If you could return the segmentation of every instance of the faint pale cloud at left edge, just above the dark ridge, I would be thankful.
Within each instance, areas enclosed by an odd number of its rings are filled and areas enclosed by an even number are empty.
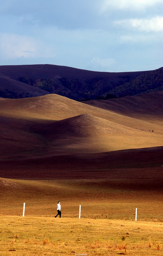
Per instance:
[[[4,33],[0,38],[0,55],[4,60],[52,56],[50,49],[32,36]]]

